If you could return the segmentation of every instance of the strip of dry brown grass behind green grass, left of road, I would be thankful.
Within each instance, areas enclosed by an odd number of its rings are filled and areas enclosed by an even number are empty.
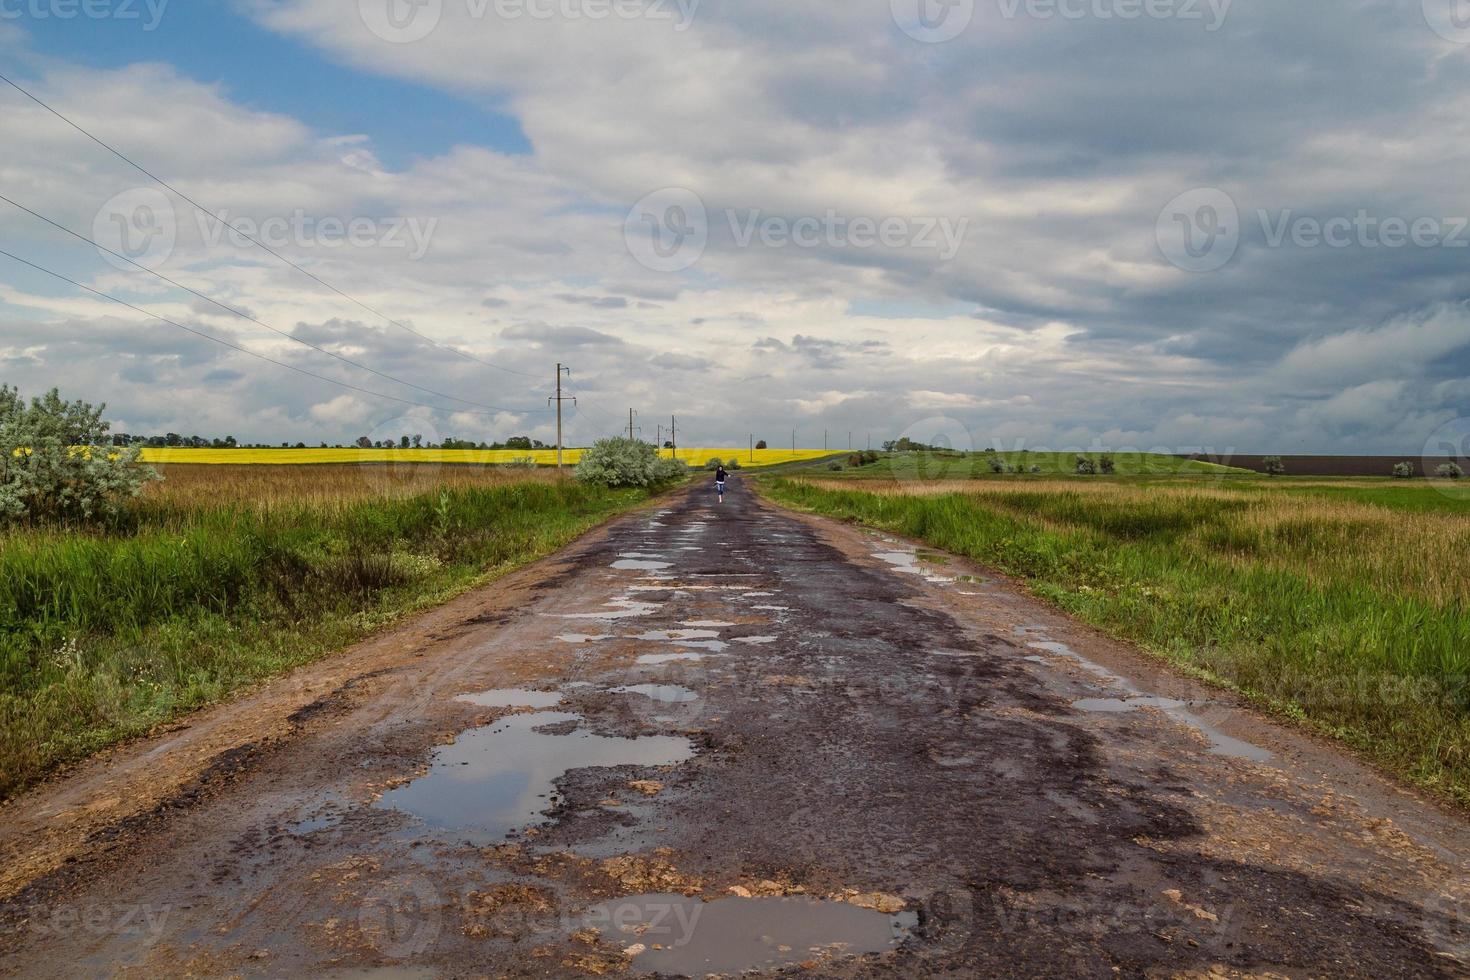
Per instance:
[[[409,497],[440,486],[506,486],[554,483],[554,469],[442,466],[435,463],[365,463],[319,466],[198,466],[160,464],[163,476],[150,483],[144,501],[169,507],[247,504],[273,507],[331,505],[369,497]]]

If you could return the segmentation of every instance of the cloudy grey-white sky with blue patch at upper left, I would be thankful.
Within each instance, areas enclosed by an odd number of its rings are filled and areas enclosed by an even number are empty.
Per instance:
[[[0,84],[81,235],[0,201],[0,382],[123,432],[1467,430],[1466,0],[0,0],[0,73],[168,184]]]

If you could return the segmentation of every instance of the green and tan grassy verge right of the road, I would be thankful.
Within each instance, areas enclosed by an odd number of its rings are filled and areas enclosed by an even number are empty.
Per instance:
[[[770,480],[926,541],[1470,804],[1470,504],[1413,482]],[[856,473],[854,473],[856,475]]]

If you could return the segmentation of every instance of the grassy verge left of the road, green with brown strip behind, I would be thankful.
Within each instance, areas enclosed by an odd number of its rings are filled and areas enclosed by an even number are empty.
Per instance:
[[[162,467],[107,532],[0,533],[0,796],[647,498],[476,467]]]

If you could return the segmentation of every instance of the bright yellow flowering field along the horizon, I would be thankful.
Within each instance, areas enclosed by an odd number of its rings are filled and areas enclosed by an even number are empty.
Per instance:
[[[670,450],[664,457],[673,455]],[[678,450],[678,457],[692,466],[709,460],[739,460],[741,466],[763,467],[797,463],[831,455],[823,450],[751,450],[723,448]],[[146,463],[198,463],[209,466],[293,466],[320,463],[438,463],[504,466],[531,457],[538,466],[554,466],[556,450],[143,450]],[[563,461],[570,466],[582,458],[582,450],[563,450]]]

